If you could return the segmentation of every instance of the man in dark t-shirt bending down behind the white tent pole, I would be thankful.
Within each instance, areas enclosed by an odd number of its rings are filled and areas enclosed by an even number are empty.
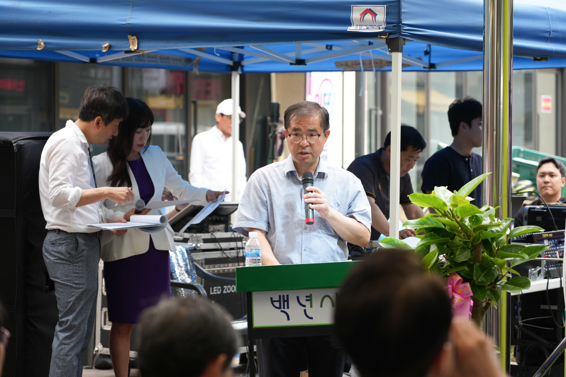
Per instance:
[[[411,170],[421,151],[426,147],[421,134],[416,128],[401,125],[401,180],[399,202],[403,205],[405,215],[409,220],[424,216],[421,207],[411,203],[409,195],[413,193],[411,186]],[[391,161],[391,132],[385,137],[383,148],[375,153],[356,158],[348,167],[348,171],[357,176],[366,190],[367,199],[371,206],[371,240],[379,236],[389,235],[389,163]],[[401,229],[400,239],[414,236],[413,229]]]

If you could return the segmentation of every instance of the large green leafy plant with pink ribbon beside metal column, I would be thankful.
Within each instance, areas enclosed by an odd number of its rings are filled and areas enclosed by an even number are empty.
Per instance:
[[[431,194],[410,194],[414,204],[436,211],[403,224],[414,228],[420,241],[416,246],[393,237],[380,241],[385,248],[413,250],[430,274],[448,276],[456,272],[464,283],[469,283],[473,292],[471,315],[480,328],[489,307],[497,307],[500,291],[530,288],[530,280],[525,276],[512,277],[511,273],[519,275],[513,267],[537,258],[548,248],[509,244],[513,237],[544,229],[535,226],[509,229],[512,219],[496,218],[498,207],[478,208],[470,202],[473,198],[468,195],[489,174],[476,177],[457,192],[435,187]]]

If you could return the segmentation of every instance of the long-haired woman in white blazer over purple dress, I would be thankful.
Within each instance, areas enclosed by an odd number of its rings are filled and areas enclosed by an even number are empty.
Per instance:
[[[127,98],[130,114],[112,138],[108,151],[93,157],[97,182],[111,187],[131,187],[134,201],[125,205],[105,200],[106,218],[130,220],[135,201],[160,201],[164,188],[179,200],[196,199],[196,205],[216,201],[221,192],[196,188],[175,171],[165,153],[151,144],[153,113],[145,102]],[[161,214],[160,210],[144,210],[141,214]],[[108,232],[104,232],[108,233]],[[110,357],[116,377],[126,377],[130,358],[130,331],[138,323],[141,311],[162,296],[170,296],[169,250],[174,250],[173,229],[146,233],[129,229],[123,236],[101,237],[101,258],[108,301]]]

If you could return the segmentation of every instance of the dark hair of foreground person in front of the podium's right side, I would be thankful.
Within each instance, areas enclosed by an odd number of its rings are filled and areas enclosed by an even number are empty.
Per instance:
[[[358,262],[338,293],[337,336],[362,377],[422,377],[444,343],[451,304],[413,253],[387,249]]]

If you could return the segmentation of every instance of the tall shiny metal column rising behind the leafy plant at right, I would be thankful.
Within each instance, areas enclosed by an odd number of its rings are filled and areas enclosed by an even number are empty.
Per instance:
[[[511,209],[511,95],[513,93],[513,0],[484,0],[483,40],[483,203],[500,206],[497,216],[508,217]],[[507,352],[506,295],[498,309],[484,319],[484,332],[501,349],[502,366]]]

